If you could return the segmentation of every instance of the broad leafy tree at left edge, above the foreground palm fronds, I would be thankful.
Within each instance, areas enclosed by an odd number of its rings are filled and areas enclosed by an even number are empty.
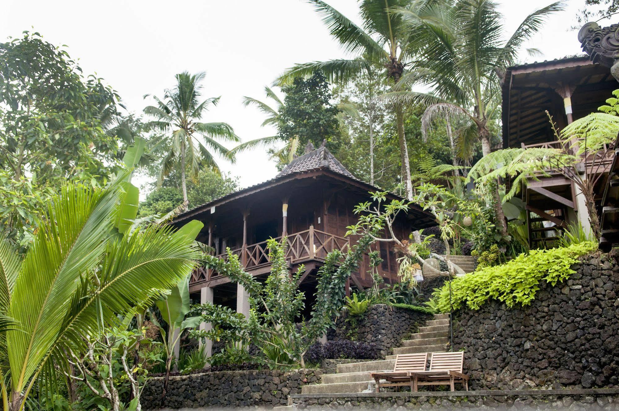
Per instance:
[[[23,251],[62,184],[97,186],[120,167],[139,121],[39,33],[0,43],[0,62],[0,231]]]

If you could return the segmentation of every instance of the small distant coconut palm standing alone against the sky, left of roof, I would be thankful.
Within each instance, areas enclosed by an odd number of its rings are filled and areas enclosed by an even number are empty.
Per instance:
[[[180,168],[181,186],[185,206],[188,204],[186,170],[194,178],[201,167],[208,167],[220,171],[214,155],[209,148],[222,157],[234,162],[235,158],[226,147],[217,142],[239,142],[234,130],[227,123],[202,123],[199,121],[209,106],[217,105],[220,97],[207,98],[200,102],[202,85],[206,74],[176,74],[176,85],[173,89],[165,90],[163,98],[154,97],[157,106],[147,106],[144,113],[156,118],[147,126],[162,131],[163,139],[168,139],[172,149],[163,158],[160,172],[160,181],[170,171]],[[146,95],[144,97],[148,97]],[[207,148],[209,147],[209,148]]]

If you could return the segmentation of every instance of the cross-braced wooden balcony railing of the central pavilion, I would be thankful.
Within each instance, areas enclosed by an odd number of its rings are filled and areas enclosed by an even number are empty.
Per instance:
[[[281,241],[282,237],[277,237],[275,240]],[[286,243],[285,257],[291,264],[313,259],[321,260],[331,251],[337,249],[346,252],[350,247],[348,238],[314,230],[313,226],[310,226],[308,230],[288,235]],[[271,263],[267,241],[233,249],[232,253],[240,257],[241,264],[248,271],[267,266]],[[218,254],[217,257],[227,259],[228,254]],[[221,275],[213,269],[198,267],[191,274],[190,283],[201,283],[220,277]]]

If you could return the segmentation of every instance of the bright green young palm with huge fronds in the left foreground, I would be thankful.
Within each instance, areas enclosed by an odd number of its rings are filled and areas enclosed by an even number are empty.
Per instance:
[[[47,207],[23,256],[0,239],[0,392],[21,411],[32,387],[68,370],[67,352],[85,353],[118,315],[147,306],[189,275],[201,256],[202,223],[129,230],[137,188],[116,176],[105,189],[67,185]],[[136,203],[136,204],[133,204]]]

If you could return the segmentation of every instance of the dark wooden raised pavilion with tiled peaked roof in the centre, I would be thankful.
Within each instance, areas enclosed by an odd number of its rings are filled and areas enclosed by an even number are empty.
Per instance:
[[[189,219],[204,222],[198,241],[209,244],[217,256],[226,257],[226,249],[240,257],[250,274],[264,279],[271,264],[266,246],[269,238],[287,237],[286,257],[292,270],[303,264],[305,272],[300,288],[306,293],[306,306],[311,306],[316,272],[327,253],[347,251],[357,238],[346,236],[347,226],[357,222],[353,208],[370,200],[369,191],[378,188],[353,176],[324,145],[314,149],[311,143],[306,154],[288,164],[275,178],[215,199],[188,210],[173,220],[181,225]],[[389,194],[389,199],[399,198]],[[400,238],[412,230],[435,225],[433,218],[419,207],[399,216],[395,228]],[[385,282],[397,280],[396,255],[385,243],[374,246],[383,262],[378,267]],[[372,284],[369,257],[366,254],[358,272],[352,277],[357,288]],[[189,282],[190,293],[201,294],[201,301],[227,305],[248,313],[243,288],[231,283],[225,275],[201,267]]]

